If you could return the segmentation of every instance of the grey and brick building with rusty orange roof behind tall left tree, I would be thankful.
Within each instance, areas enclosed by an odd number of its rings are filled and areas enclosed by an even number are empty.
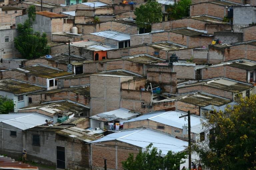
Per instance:
[[[17,16],[16,25],[24,23],[28,18],[28,14]],[[36,20],[33,23],[33,29],[40,33],[45,32],[48,41],[52,40],[52,34],[65,32],[64,19],[67,18],[65,15],[56,14],[48,11],[36,12]],[[73,24],[72,26],[73,27]],[[70,29],[71,29],[70,27]]]

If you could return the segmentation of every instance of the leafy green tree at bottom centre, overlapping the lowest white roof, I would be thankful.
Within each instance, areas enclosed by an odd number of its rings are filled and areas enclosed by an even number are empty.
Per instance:
[[[161,157],[162,151],[157,151],[156,147],[152,147],[150,143],[146,147],[146,151],[140,151],[134,158],[133,153],[129,154],[127,160],[122,162],[122,166],[126,170],[177,170],[180,164],[184,163],[182,159],[186,159],[186,152],[174,153],[168,151],[167,155]]]

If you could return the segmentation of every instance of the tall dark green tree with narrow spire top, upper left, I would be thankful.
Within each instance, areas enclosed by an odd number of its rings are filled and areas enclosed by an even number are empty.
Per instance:
[[[14,39],[15,47],[27,59],[40,57],[49,52],[46,34],[41,35],[32,28],[33,21],[36,19],[35,12],[35,6],[31,5],[28,9],[28,19],[24,24],[18,24],[18,37]]]

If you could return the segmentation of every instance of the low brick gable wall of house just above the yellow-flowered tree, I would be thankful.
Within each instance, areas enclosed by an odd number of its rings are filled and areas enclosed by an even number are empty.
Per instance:
[[[228,91],[221,90],[221,89],[216,89],[213,87],[198,85],[198,86],[178,88],[178,93],[189,93],[189,92],[196,92],[196,91],[201,91],[204,93],[209,93],[212,95],[216,95],[216,96],[220,96],[220,97],[224,97],[224,98],[233,100],[232,92],[228,92]]]

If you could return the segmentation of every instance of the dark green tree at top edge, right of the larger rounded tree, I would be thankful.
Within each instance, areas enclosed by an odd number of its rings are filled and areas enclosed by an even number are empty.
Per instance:
[[[169,5],[167,12],[169,13],[169,19],[177,20],[182,17],[189,16],[189,5],[191,5],[191,0],[180,0],[178,3]]]

